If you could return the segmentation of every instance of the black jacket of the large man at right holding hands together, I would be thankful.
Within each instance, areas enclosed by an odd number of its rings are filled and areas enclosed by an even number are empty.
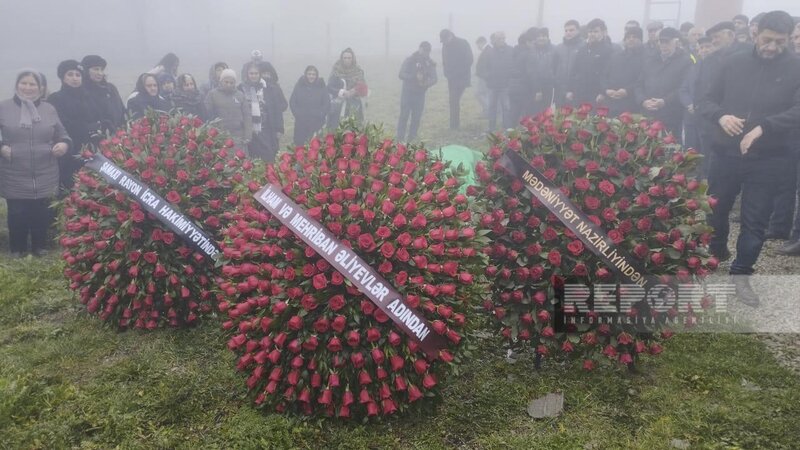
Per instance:
[[[697,107],[714,124],[713,151],[740,155],[739,142],[744,134],[761,126],[763,135],[753,143],[748,157],[789,153],[791,132],[800,124],[800,59],[796,55],[783,52],[765,60],[755,50],[737,52],[722,61],[709,81],[710,89]],[[725,134],[719,119],[726,114],[746,119],[742,135]]]

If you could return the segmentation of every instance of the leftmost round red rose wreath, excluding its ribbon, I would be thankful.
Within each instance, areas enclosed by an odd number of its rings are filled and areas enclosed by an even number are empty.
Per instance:
[[[238,202],[233,185],[253,167],[227,135],[188,116],[148,115],[99,147],[213,240]],[[193,325],[213,310],[214,261],[96,171],[81,169],[61,208],[64,273],[89,313],[154,329]]]

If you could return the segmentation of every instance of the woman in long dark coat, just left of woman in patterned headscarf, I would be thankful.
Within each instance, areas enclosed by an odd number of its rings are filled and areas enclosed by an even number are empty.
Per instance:
[[[325,125],[331,109],[331,97],[316,67],[306,67],[294,86],[289,106],[294,115],[294,145],[304,145]]]

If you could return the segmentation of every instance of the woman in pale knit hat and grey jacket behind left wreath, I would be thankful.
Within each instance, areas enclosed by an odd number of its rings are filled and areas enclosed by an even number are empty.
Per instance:
[[[220,128],[231,134],[236,146],[248,151],[253,137],[250,103],[236,90],[236,72],[225,69],[219,76],[219,87],[208,93],[205,100],[209,119],[220,119]]]

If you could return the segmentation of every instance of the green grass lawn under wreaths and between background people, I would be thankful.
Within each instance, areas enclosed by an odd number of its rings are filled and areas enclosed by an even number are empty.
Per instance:
[[[373,83],[368,112],[392,133],[397,64]],[[292,85],[284,84],[287,96]],[[464,130],[454,134],[446,129],[446,97],[440,82],[428,98],[422,137],[485,148],[475,139],[485,125],[472,92],[464,98]],[[369,425],[303,421],[251,407],[217,321],[118,333],[87,316],[61,271],[57,256],[0,255],[0,448],[800,445],[800,377],[748,335],[678,335],[661,356],[644,359],[639,373],[585,373],[552,360],[536,370],[529,355],[509,364],[500,342],[481,333],[472,337],[474,358],[422,414]],[[528,402],[549,392],[564,393],[564,412],[531,419]]]

